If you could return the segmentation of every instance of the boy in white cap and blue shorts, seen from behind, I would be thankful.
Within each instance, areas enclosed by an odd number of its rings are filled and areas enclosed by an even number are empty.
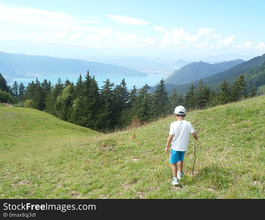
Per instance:
[[[189,134],[198,140],[198,136],[189,121],[184,120],[186,116],[186,109],[179,105],[175,108],[174,117],[177,121],[170,124],[169,136],[167,139],[167,146],[165,152],[169,151],[168,146],[171,143],[171,151],[169,156],[169,162],[172,164],[173,182],[172,185],[178,185],[179,179],[182,179],[183,175],[183,158],[186,150],[189,146]],[[177,169],[177,163],[179,169]]]

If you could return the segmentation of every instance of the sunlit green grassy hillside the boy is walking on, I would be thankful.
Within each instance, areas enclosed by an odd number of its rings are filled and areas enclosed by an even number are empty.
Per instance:
[[[0,198],[265,198],[264,109],[259,96],[188,112],[201,128],[194,180],[191,136],[183,179],[172,186],[164,150],[173,116],[99,135],[33,109],[0,107]]]

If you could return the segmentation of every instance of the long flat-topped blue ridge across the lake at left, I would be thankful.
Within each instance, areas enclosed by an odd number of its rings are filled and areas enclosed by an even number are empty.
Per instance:
[[[146,76],[129,68],[77,59],[22,55],[0,52],[0,73],[10,77],[25,75],[78,75],[89,70],[91,75]]]

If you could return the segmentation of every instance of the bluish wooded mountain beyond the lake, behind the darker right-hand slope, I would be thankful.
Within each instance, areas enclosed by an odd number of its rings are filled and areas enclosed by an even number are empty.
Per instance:
[[[174,71],[164,81],[165,83],[171,83],[176,85],[190,83],[192,81],[199,80],[211,76],[213,74],[225,71],[243,62],[245,61],[241,59],[225,61],[216,64],[209,64],[203,61],[192,62]]]

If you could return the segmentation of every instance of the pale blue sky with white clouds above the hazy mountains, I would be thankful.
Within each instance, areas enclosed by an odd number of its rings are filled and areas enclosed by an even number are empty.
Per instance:
[[[264,1],[0,0],[0,40],[256,56],[265,53],[264,11]]]

